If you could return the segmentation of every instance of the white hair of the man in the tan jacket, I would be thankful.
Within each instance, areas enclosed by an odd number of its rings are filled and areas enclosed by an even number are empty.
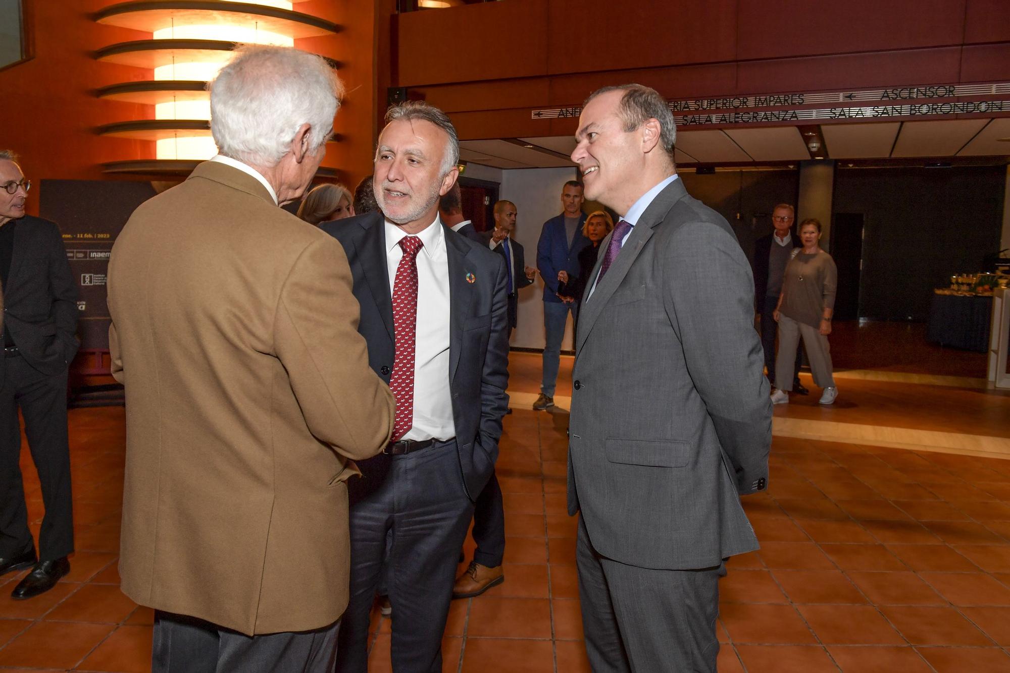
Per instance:
[[[288,46],[236,50],[209,85],[210,132],[218,151],[246,163],[274,166],[302,124],[310,149],[329,138],[343,87],[321,58]]]

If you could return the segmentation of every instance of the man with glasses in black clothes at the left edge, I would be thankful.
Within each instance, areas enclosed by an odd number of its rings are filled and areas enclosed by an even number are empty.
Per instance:
[[[32,568],[14,598],[52,589],[70,572],[74,551],[67,372],[79,346],[78,293],[60,229],[24,214],[30,186],[13,153],[0,151],[0,574]],[[45,507],[37,557],[18,466],[18,407]]]

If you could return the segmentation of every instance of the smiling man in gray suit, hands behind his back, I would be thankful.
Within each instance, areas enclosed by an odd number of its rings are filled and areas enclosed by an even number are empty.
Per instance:
[[[772,405],[750,265],[688,196],[674,118],[640,85],[583,108],[586,198],[624,213],[579,320],[569,514],[593,670],[715,671],[723,559],[758,548],[739,494],[766,487]]]

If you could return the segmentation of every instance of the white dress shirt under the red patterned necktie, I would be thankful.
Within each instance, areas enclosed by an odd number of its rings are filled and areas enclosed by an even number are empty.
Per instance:
[[[393,294],[396,269],[403,257],[403,230],[386,220],[386,266]],[[416,234],[423,243],[417,253],[417,333],[414,341],[414,425],[403,439],[446,440],[456,437],[452,392],[448,384],[449,293],[445,232],[435,216]]]

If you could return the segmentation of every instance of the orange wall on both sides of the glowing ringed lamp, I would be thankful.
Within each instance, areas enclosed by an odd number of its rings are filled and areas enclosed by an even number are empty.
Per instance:
[[[149,80],[149,70],[99,63],[92,53],[103,46],[149,33],[98,24],[91,14],[116,0],[26,0],[34,40],[34,58],[0,71],[0,148],[21,155],[27,177],[64,180],[145,180],[107,176],[101,163],[155,157],[150,141],[109,138],[94,129],[129,119],[154,118],[154,107],[101,100],[100,87]],[[354,187],[372,172],[377,134],[377,109],[385,109],[389,69],[381,68],[377,49],[389,51],[390,16],[395,0],[308,0],[297,11],[334,21],[336,35],[296,40],[301,48],[318,51],[343,64],[338,71],[347,95],[334,130],[342,136],[330,143],[323,164],[338,169]],[[377,38],[377,35],[380,38]],[[388,63],[388,55],[381,63]],[[381,106],[378,103],[381,102]],[[29,195],[28,210],[38,211],[38,191]]]

